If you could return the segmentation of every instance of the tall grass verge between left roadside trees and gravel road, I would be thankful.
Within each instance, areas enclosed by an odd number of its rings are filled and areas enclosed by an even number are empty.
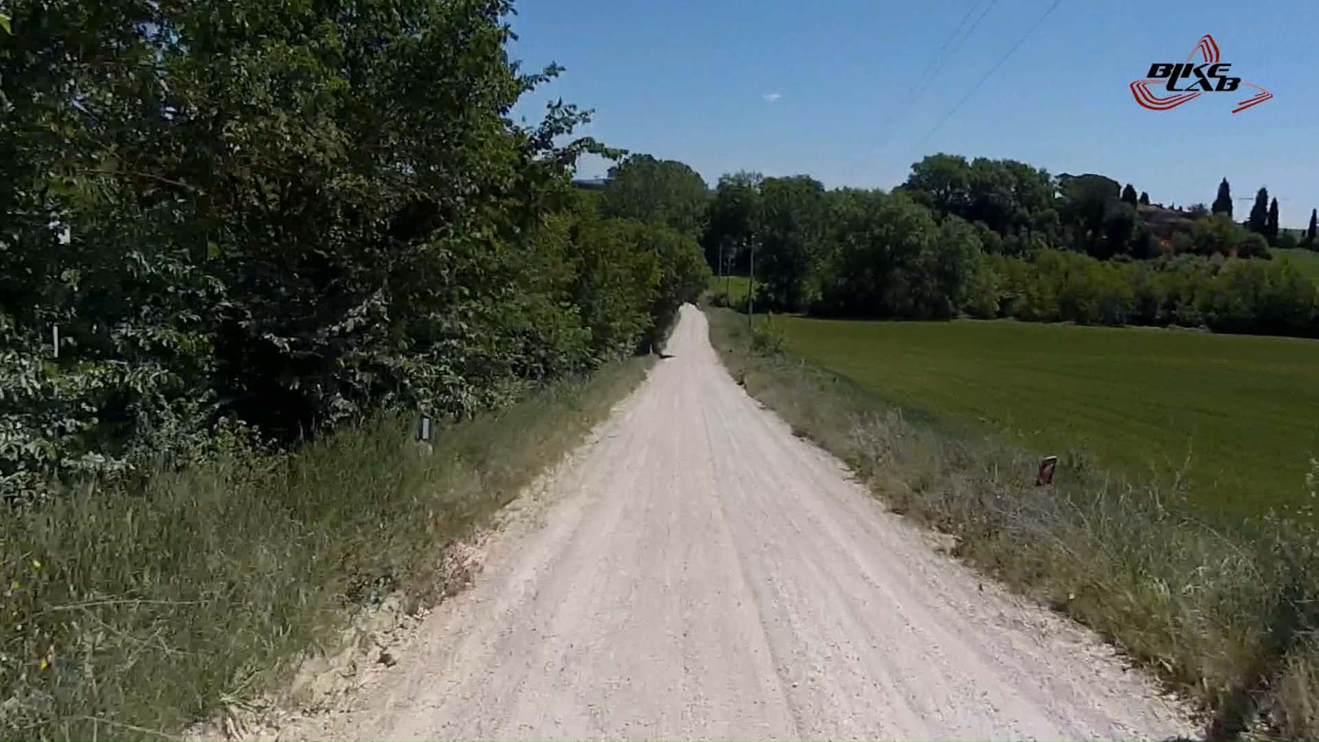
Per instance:
[[[375,420],[285,457],[87,486],[5,514],[0,737],[171,737],[286,683],[359,606],[414,606],[442,544],[508,503],[644,378],[634,358],[441,429]]]

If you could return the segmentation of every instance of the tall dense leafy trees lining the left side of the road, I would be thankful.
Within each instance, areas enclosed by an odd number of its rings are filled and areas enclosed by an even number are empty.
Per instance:
[[[0,490],[218,426],[472,415],[662,331],[706,283],[704,186],[660,220],[572,189],[612,152],[572,106],[512,121],[559,70],[508,58],[510,12],[5,3]]]

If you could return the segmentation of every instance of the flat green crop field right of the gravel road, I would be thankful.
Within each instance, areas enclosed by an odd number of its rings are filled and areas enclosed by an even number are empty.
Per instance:
[[[1308,499],[1319,455],[1319,342],[1014,321],[782,318],[789,349],[910,413],[1086,452],[1210,510]],[[1190,457],[1190,466],[1186,466]]]

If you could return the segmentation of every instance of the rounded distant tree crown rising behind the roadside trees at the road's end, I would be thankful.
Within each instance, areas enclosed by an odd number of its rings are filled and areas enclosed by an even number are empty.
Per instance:
[[[690,166],[633,154],[609,169],[609,182],[600,193],[600,214],[699,236],[708,201],[706,181]]]

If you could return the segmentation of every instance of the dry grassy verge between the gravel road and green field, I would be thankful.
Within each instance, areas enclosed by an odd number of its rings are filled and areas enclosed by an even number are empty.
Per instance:
[[[1062,457],[1053,486],[1035,487],[1035,452],[909,419],[774,350],[781,329],[749,333],[745,316],[725,309],[707,316],[711,342],[749,393],[851,465],[894,511],[955,535],[960,557],[1203,701],[1212,737],[1258,721],[1319,737],[1312,525],[1270,515],[1215,529],[1195,519],[1184,481],[1141,482],[1078,454]]]

